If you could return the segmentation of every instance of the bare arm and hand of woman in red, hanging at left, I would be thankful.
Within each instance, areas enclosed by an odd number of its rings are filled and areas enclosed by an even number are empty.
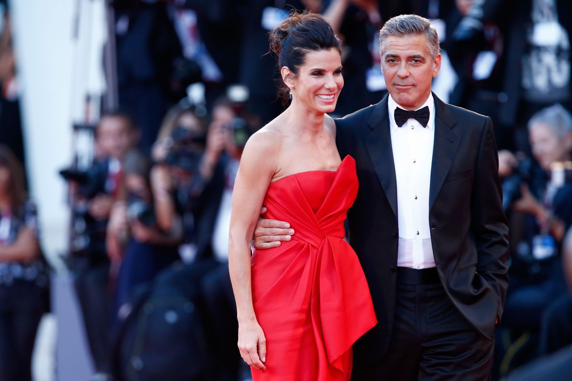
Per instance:
[[[259,131],[249,139],[232,194],[228,266],[239,320],[239,348],[256,370],[265,370],[264,333],[252,305],[251,243],[264,196],[276,172],[279,139],[276,132]]]

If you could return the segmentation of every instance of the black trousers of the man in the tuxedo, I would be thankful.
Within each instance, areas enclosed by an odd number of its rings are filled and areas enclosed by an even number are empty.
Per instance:
[[[387,352],[378,363],[354,358],[352,380],[484,381],[492,348],[452,304],[435,268],[400,267]]]

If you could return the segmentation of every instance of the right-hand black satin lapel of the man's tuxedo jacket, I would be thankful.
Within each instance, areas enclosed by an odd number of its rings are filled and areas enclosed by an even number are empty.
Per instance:
[[[435,106],[437,106],[436,101]],[[431,211],[431,207],[449,173],[451,163],[455,158],[460,143],[460,138],[439,117],[439,107],[436,107],[436,111],[433,161],[431,162],[431,185],[429,187],[429,211]]]

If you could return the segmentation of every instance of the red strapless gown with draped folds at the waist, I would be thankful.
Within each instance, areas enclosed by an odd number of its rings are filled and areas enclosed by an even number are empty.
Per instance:
[[[252,255],[252,299],[267,339],[267,370],[253,381],[342,381],[352,344],[377,323],[344,220],[358,194],[355,160],[269,185],[264,218],[287,221],[289,242]]]

